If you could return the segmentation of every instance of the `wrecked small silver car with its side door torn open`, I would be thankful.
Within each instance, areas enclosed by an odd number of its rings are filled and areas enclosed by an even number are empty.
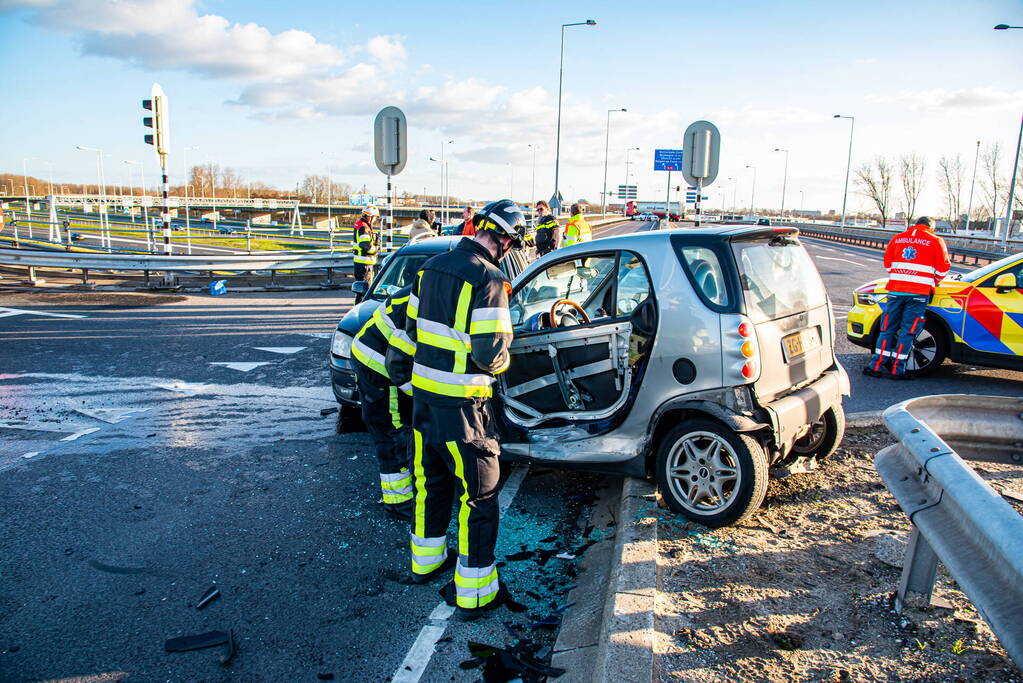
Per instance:
[[[751,516],[769,469],[845,431],[824,282],[795,228],[638,232],[560,248],[514,282],[498,376],[506,458],[653,475],[671,509]]]

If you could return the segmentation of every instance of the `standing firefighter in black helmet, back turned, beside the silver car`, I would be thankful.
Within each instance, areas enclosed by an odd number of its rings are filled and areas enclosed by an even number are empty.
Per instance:
[[[491,398],[494,375],[509,363],[511,285],[497,264],[522,245],[526,218],[501,199],[473,220],[474,237],[430,259],[418,273],[405,326],[414,356],[392,346],[387,357],[395,381],[410,377],[413,386],[412,578],[426,583],[454,564],[462,619],[497,607],[506,595],[494,563],[500,448]],[[455,560],[446,535],[456,493]]]

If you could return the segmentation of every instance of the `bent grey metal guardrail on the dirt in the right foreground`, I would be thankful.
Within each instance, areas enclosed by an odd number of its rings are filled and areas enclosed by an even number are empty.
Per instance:
[[[1023,466],[1023,400],[928,396],[884,418],[899,443],[874,463],[913,522],[896,610],[930,601],[940,561],[1023,667],[1023,516],[966,462]]]

